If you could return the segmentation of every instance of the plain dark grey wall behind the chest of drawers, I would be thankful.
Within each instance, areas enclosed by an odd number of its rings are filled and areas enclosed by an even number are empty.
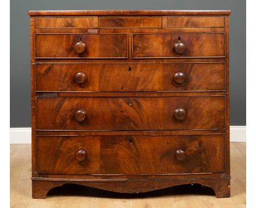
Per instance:
[[[11,0],[10,127],[30,127],[30,24],[28,10],[225,10],[230,17],[230,123],[246,125],[245,0]],[[4,69],[3,69],[4,70]]]

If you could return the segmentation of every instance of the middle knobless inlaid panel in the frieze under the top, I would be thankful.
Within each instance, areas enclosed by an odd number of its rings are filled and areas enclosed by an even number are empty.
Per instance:
[[[162,17],[99,17],[99,28],[161,28]]]

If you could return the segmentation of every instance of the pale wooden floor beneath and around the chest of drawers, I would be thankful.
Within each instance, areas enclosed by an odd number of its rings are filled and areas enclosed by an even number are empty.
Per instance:
[[[246,207],[246,143],[231,143],[231,198],[217,199],[211,188],[185,185],[143,194],[120,194],[78,185],[51,189],[46,199],[31,197],[31,145],[10,145],[10,207]]]

